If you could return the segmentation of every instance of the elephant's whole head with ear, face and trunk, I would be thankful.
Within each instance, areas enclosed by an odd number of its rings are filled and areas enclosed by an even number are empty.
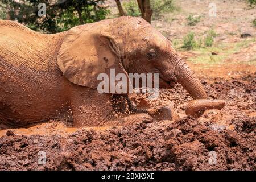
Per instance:
[[[98,74],[109,74],[114,68],[115,73],[126,75],[159,73],[160,88],[179,82],[194,99],[207,98],[200,80],[170,41],[142,18],[121,17],[71,28],[65,34],[57,63],[69,81],[90,88],[97,88]]]

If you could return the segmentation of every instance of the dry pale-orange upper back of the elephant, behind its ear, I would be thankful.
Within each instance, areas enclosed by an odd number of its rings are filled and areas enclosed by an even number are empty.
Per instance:
[[[51,66],[49,61],[55,54],[58,38],[57,34],[40,34],[16,22],[0,21],[1,62],[46,71]]]

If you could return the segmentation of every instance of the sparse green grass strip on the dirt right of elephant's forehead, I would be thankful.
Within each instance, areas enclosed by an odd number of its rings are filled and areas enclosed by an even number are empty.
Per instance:
[[[216,47],[204,47],[193,51],[197,57],[188,58],[189,61],[194,63],[203,64],[215,64],[227,59],[230,55],[241,51],[242,48],[246,48],[250,43],[255,42],[255,38],[245,39],[237,43],[222,43]],[[212,55],[212,52],[217,52],[218,55]],[[255,61],[250,61],[251,64],[256,64]]]

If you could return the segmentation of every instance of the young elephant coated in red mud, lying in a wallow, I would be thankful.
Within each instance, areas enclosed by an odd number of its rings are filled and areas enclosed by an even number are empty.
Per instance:
[[[110,75],[111,69],[125,75],[159,73],[159,88],[179,82],[196,99],[188,105],[188,115],[224,105],[205,100],[203,85],[169,40],[141,18],[102,20],[50,35],[2,20],[0,127],[56,118],[68,119],[73,126],[100,126],[124,102],[137,111],[128,94],[98,92],[98,75]]]

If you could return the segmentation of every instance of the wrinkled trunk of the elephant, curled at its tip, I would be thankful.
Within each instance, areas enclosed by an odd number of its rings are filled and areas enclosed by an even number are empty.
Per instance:
[[[195,73],[188,67],[188,65],[180,59],[178,55],[175,55],[175,76],[177,82],[179,82],[189,94],[191,94],[194,101],[189,102],[185,110],[187,115],[193,115],[194,117],[200,117],[203,115],[205,109],[222,109],[225,105],[221,100],[207,100],[207,93],[201,81],[196,77]]]

